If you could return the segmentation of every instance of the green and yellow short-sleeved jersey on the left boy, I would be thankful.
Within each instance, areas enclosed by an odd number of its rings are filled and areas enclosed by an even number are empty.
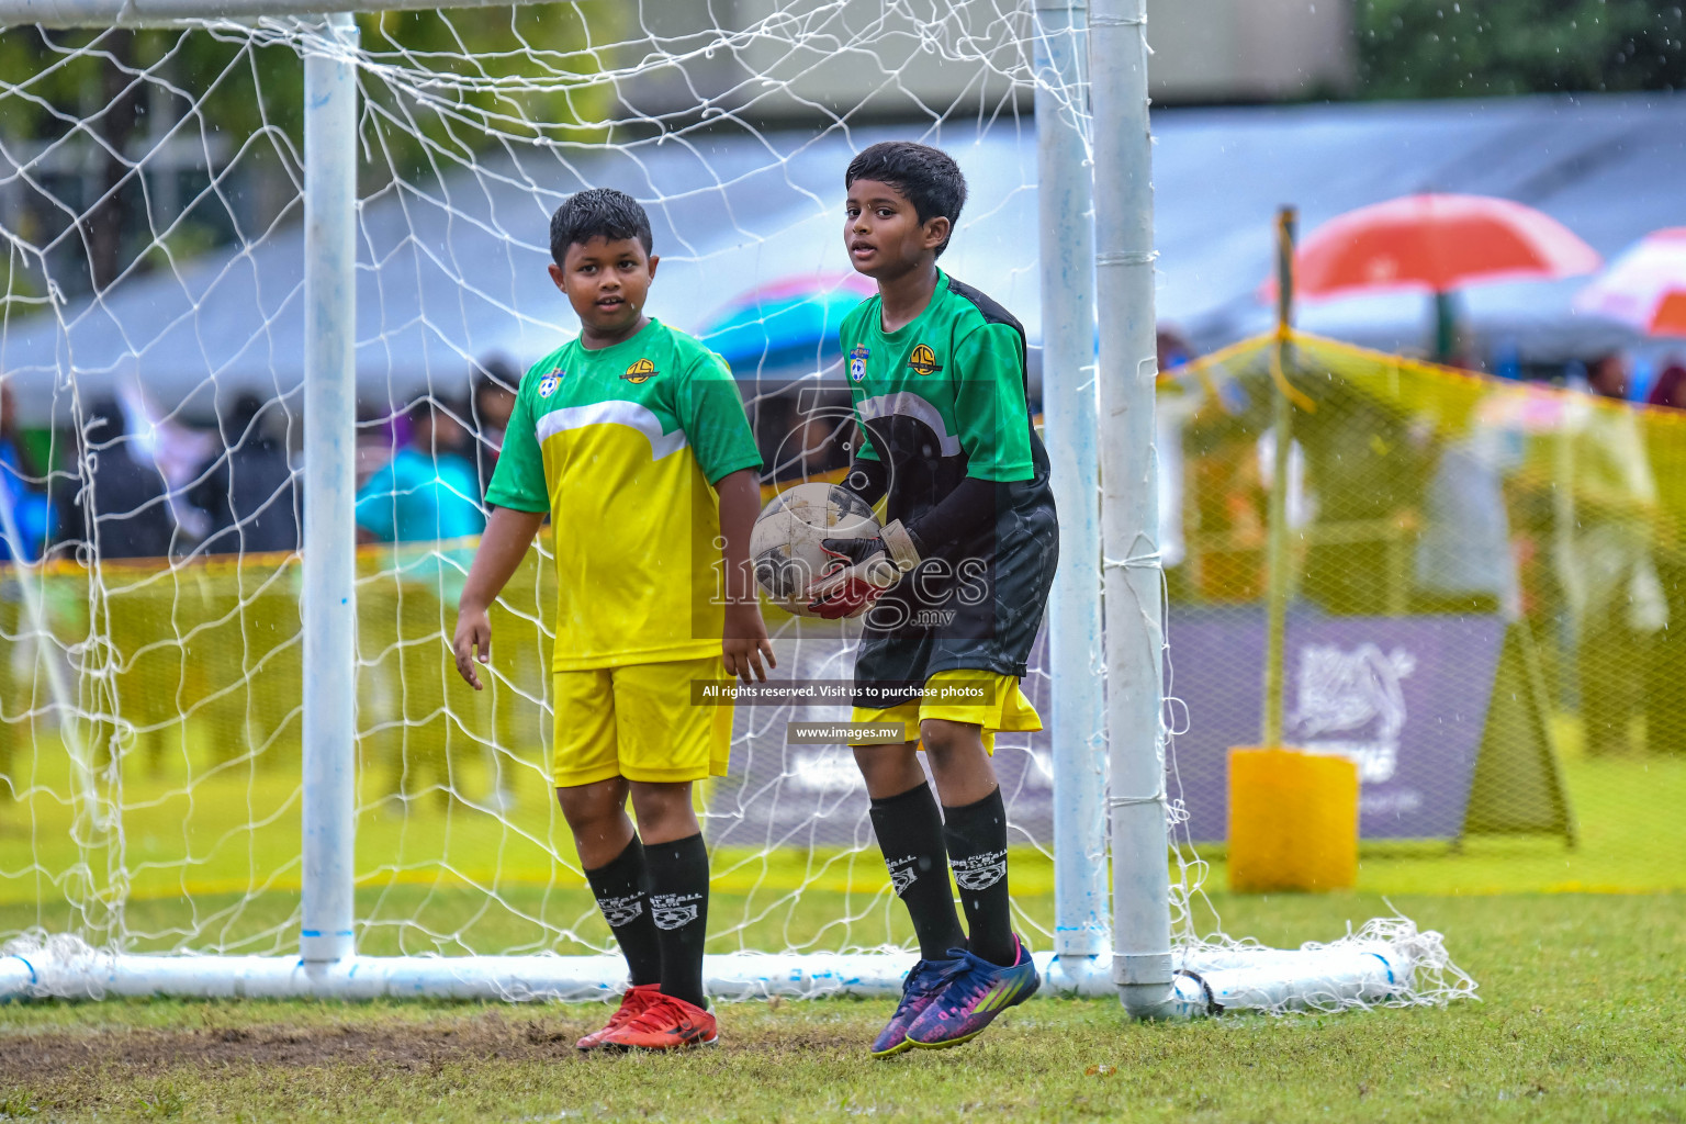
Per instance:
[[[759,467],[725,361],[659,320],[614,347],[573,340],[528,371],[486,502],[550,511],[553,669],[718,652],[711,485]]]

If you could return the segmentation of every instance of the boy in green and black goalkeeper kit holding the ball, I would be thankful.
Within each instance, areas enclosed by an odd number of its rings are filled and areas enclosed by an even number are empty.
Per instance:
[[[1042,728],[1020,679],[1059,524],[1030,425],[1025,332],[936,266],[966,201],[959,169],[936,148],[890,142],[862,152],[845,187],[850,261],[878,283],[841,332],[865,435],[845,487],[882,499],[889,522],[880,538],[826,539],[838,566],[811,593],[824,617],[863,615],[855,721],[900,721],[910,735],[855,747],[921,950],[872,1046],[889,1057],[969,1041],[1040,982],[1012,930],[1007,811],[990,755],[996,731]]]

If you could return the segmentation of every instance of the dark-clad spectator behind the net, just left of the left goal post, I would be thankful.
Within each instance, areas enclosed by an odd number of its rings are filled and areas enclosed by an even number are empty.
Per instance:
[[[246,393],[223,416],[228,448],[199,468],[187,502],[211,519],[207,554],[298,549],[298,485],[277,433],[278,401]]]

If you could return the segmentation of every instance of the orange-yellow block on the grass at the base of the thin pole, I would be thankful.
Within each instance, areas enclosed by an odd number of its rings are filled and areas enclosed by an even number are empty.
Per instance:
[[[1229,888],[1345,890],[1359,875],[1359,767],[1290,748],[1229,750]]]

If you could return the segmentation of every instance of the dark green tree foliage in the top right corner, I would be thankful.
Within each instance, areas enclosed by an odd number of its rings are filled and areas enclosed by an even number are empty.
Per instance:
[[[1673,0],[1359,0],[1356,32],[1374,98],[1686,88]]]

